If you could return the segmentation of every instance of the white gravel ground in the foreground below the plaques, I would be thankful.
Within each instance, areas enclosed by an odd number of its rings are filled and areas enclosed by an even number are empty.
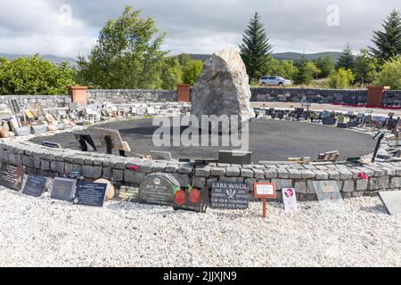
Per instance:
[[[122,201],[104,208],[0,187],[0,266],[400,266],[401,216],[379,198],[342,214],[303,202],[206,214]]]

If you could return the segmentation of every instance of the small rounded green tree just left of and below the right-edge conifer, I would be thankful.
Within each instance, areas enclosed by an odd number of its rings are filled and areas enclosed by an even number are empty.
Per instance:
[[[354,73],[356,82],[362,85],[372,83],[378,69],[377,60],[372,58],[367,49],[361,49],[356,56]]]

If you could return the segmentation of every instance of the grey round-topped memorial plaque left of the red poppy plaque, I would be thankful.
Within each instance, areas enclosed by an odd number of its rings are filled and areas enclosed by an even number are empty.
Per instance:
[[[139,185],[139,201],[171,206],[176,187],[179,188],[180,183],[173,175],[165,173],[147,175]]]

